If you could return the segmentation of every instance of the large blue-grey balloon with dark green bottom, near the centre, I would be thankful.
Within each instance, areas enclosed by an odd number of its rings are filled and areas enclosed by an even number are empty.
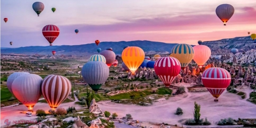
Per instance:
[[[100,61],[87,62],[82,68],[83,80],[97,92],[109,77],[108,66]]]

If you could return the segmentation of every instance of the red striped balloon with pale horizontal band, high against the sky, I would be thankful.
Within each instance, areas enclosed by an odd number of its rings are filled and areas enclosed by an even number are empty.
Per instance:
[[[42,32],[43,36],[45,37],[45,39],[47,39],[51,46],[53,41],[55,41],[55,39],[57,39],[57,37],[59,36],[59,27],[57,27],[56,25],[46,25],[45,27],[43,27]]]

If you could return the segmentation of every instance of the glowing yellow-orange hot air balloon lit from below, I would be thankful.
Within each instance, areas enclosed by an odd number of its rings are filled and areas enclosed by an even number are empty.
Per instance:
[[[145,58],[144,51],[135,46],[127,47],[122,52],[123,62],[134,75],[135,71],[139,68]]]

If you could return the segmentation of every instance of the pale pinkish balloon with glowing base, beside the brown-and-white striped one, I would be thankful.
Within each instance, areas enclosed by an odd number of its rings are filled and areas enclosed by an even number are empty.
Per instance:
[[[28,107],[28,111],[33,111],[33,107],[42,95],[40,89],[42,81],[39,75],[26,74],[20,75],[12,82],[14,96]]]

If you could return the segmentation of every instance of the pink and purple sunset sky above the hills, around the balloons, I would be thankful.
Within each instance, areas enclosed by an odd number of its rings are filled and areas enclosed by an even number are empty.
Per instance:
[[[198,40],[256,33],[256,0],[40,0],[45,5],[40,16],[32,9],[34,2],[0,1],[0,47],[49,46],[42,34],[49,24],[60,30],[54,46],[94,43],[97,39],[197,45]],[[215,13],[221,4],[235,8],[226,26]],[[56,8],[54,13],[52,7]]]

